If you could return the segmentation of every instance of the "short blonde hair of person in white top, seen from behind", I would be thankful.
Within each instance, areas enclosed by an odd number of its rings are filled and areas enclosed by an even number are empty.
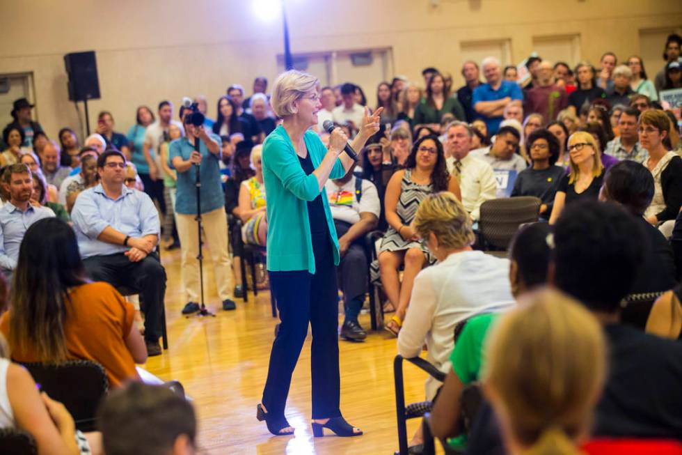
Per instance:
[[[434,233],[445,248],[463,248],[473,244],[471,218],[462,203],[450,192],[430,194],[417,209],[414,228],[422,238]]]

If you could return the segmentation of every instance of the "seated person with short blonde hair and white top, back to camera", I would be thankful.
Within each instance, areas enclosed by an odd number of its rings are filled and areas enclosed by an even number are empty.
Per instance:
[[[426,343],[427,360],[446,372],[450,369],[457,323],[514,304],[509,260],[471,248],[475,238],[470,217],[450,193],[432,194],[422,201],[413,225],[438,263],[415,278],[409,310],[398,336],[398,353],[417,357]],[[429,377],[427,399],[434,399],[441,385]],[[421,440],[418,431],[411,445]]]

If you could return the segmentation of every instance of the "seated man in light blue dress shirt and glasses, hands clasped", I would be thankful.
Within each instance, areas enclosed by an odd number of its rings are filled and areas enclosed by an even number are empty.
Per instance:
[[[152,199],[124,185],[125,157],[105,151],[97,158],[100,184],[81,192],[71,213],[88,275],[140,293],[148,355],[161,354],[161,309],[166,270],[159,262],[159,213]]]

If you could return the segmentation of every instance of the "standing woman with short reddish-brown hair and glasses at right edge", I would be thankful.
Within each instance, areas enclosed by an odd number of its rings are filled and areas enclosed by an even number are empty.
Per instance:
[[[653,199],[644,218],[653,226],[669,221],[661,226],[666,237],[672,233],[674,219],[682,206],[682,158],[669,151],[666,144],[670,134],[670,120],[664,111],[649,109],[640,115],[640,145],[649,152],[644,162],[653,175]]]

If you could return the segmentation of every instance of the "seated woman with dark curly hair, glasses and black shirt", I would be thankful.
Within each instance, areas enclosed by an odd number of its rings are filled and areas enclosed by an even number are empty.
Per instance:
[[[560,145],[557,138],[545,129],[534,130],[526,139],[531,167],[524,169],[514,181],[514,196],[536,196],[541,200],[540,217],[549,219],[554,196],[559,183],[566,174],[563,167],[556,166]]]

